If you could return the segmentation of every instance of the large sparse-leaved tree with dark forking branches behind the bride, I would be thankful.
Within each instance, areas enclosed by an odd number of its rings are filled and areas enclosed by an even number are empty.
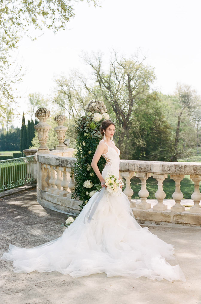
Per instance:
[[[121,157],[130,159],[132,121],[139,99],[149,94],[155,79],[154,70],[145,65],[145,57],[140,59],[138,54],[126,59],[112,51],[108,68],[103,68],[102,54],[85,55],[83,58],[91,67],[92,79],[86,80],[78,73],[68,79],[57,79],[58,94],[54,102],[75,119],[82,115],[91,99],[103,101],[121,133],[115,136],[117,145],[121,147]]]

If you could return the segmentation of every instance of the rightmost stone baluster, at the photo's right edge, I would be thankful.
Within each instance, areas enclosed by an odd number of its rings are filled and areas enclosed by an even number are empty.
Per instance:
[[[194,181],[194,192],[191,195],[193,199],[194,206],[190,208],[191,213],[201,213],[201,206],[199,202],[201,200],[201,193],[199,191],[199,182],[201,181],[201,175],[190,175],[190,179]]]

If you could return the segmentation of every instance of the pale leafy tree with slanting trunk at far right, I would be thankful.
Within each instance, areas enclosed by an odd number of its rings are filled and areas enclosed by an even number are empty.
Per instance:
[[[177,84],[175,95],[160,95],[164,114],[172,126],[174,152],[172,161],[190,155],[196,146],[195,117],[199,112],[199,96],[190,85]]]

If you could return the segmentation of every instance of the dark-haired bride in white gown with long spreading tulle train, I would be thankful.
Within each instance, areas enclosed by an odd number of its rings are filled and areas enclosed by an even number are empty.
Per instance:
[[[115,124],[110,119],[102,122],[100,131],[104,138],[91,166],[102,189],[89,199],[61,237],[33,248],[10,244],[8,253],[1,259],[13,261],[15,273],[59,271],[78,278],[105,272],[107,277],[144,276],[159,281],[163,278],[186,281],[179,265],[166,262],[174,259],[173,246],[136,222],[122,186],[118,195],[107,190],[104,178],[109,172],[120,178],[120,150],[110,139],[115,132]],[[97,166],[101,156],[106,159],[102,174]]]

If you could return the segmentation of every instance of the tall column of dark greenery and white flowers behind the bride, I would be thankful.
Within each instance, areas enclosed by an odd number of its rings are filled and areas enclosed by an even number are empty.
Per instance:
[[[106,114],[104,102],[89,102],[85,116],[77,121],[75,131],[77,133],[75,157],[77,161],[74,166],[75,190],[72,198],[79,198],[83,201],[80,206],[82,209],[89,201],[90,197],[95,194],[95,185],[100,184],[99,178],[91,167],[92,158],[95,150],[102,138],[100,126],[103,120],[109,119]],[[100,157],[98,167],[102,172],[106,160]]]

